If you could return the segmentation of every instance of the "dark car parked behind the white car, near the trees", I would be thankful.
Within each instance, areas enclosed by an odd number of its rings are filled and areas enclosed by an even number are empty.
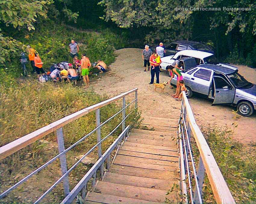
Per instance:
[[[214,54],[214,51],[210,47],[199,42],[174,41],[165,47],[166,53],[164,53],[164,56],[174,55],[176,52],[179,52],[184,49],[194,49]]]

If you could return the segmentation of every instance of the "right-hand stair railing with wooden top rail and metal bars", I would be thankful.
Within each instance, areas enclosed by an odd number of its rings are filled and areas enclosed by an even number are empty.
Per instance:
[[[187,126],[186,126],[187,122]],[[201,204],[202,198],[202,185],[204,180],[204,171],[206,172],[211,188],[214,193],[215,200],[218,204],[235,204],[235,200],[223,178],[222,173],[217,165],[217,162],[214,159],[214,156],[211,152],[210,147],[208,146],[203,134],[201,133],[198,125],[195,122],[195,118],[192,112],[192,109],[189,105],[189,101],[186,97],[185,91],[182,94],[182,102],[181,102],[181,117],[178,121],[177,134],[179,138],[179,151],[180,151],[180,168],[181,168],[181,189],[182,192],[187,192],[186,190],[186,182],[184,182],[184,178],[186,178],[185,172],[187,173],[187,179],[189,183],[189,192],[190,192],[190,200],[191,203]],[[195,138],[195,142],[197,144],[200,158],[197,171],[195,170],[195,164],[193,161],[192,150],[190,147],[190,137],[191,132],[193,137]],[[192,171],[194,173],[195,179],[195,189],[192,192],[192,185],[190,178],[190,169],[188,165],[188,156],[190,157],[192,163]],[[185,158],[185,159],[184,159]],[[184,165],[184,162],[186,165]],[[185,184],[184,184],[185,183]],[[194,196],[192,195],[194,193]],[[185,194],[187,196],[187,194]],[[188,203],[187,199],[185,199],[185,203]]]

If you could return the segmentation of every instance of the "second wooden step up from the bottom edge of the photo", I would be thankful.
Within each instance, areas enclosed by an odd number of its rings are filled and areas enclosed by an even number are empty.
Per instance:
[[[108,195],[147,200],[151,202],[164,202],[165,198],[169,197],[166,196],[167,190],[108,183],[103,181],[97,182],[96,190]]]

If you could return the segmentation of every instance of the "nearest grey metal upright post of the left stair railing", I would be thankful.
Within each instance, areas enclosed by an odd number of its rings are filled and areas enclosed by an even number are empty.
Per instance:
[[[59,153],[61,153],[65,150],[62,127],[57,129],[56,133],[57,133],[58,149],[59,149]],[[63,175],[64,173],[67,172],[66,154],[63,154],[60,156],[60,162],[61,162],[61,172]],[[65,196],[67,196],[70,192],[68,175],[63,179],[63,188],[64,188],[64,194],[65,194]]]

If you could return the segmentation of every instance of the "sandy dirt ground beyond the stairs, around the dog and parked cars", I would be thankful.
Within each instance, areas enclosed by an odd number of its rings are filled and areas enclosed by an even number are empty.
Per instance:
[[[138,87],[139,109],[142,116],[178,118],[180,102],[175,101],[171,94],[175,89],[168,87],[164,94],[160,89],[154,92],[153,85],[149,85],[150,72],[143,72],[141,59],[142,49],[127,48],[116,51],[118,57],[111,64],[111,71],[106,73],[102,79],[92,82],[92,88],[99,94],[114,96],[132,88]],[[239,72],[250,82],[256,84],[255,70],[237,66]],[[160,82],[167,81],[169,77],[165,72],[160,73]],[[199,126],[218,125],[233,129],[232,124],[237,124],[234,131],[234,139],[242,143],[256,142],[256,114],[251,117],[242,117],[229,106],[211,106],[211,101],[193,96],[189,99],[195,119]]]

